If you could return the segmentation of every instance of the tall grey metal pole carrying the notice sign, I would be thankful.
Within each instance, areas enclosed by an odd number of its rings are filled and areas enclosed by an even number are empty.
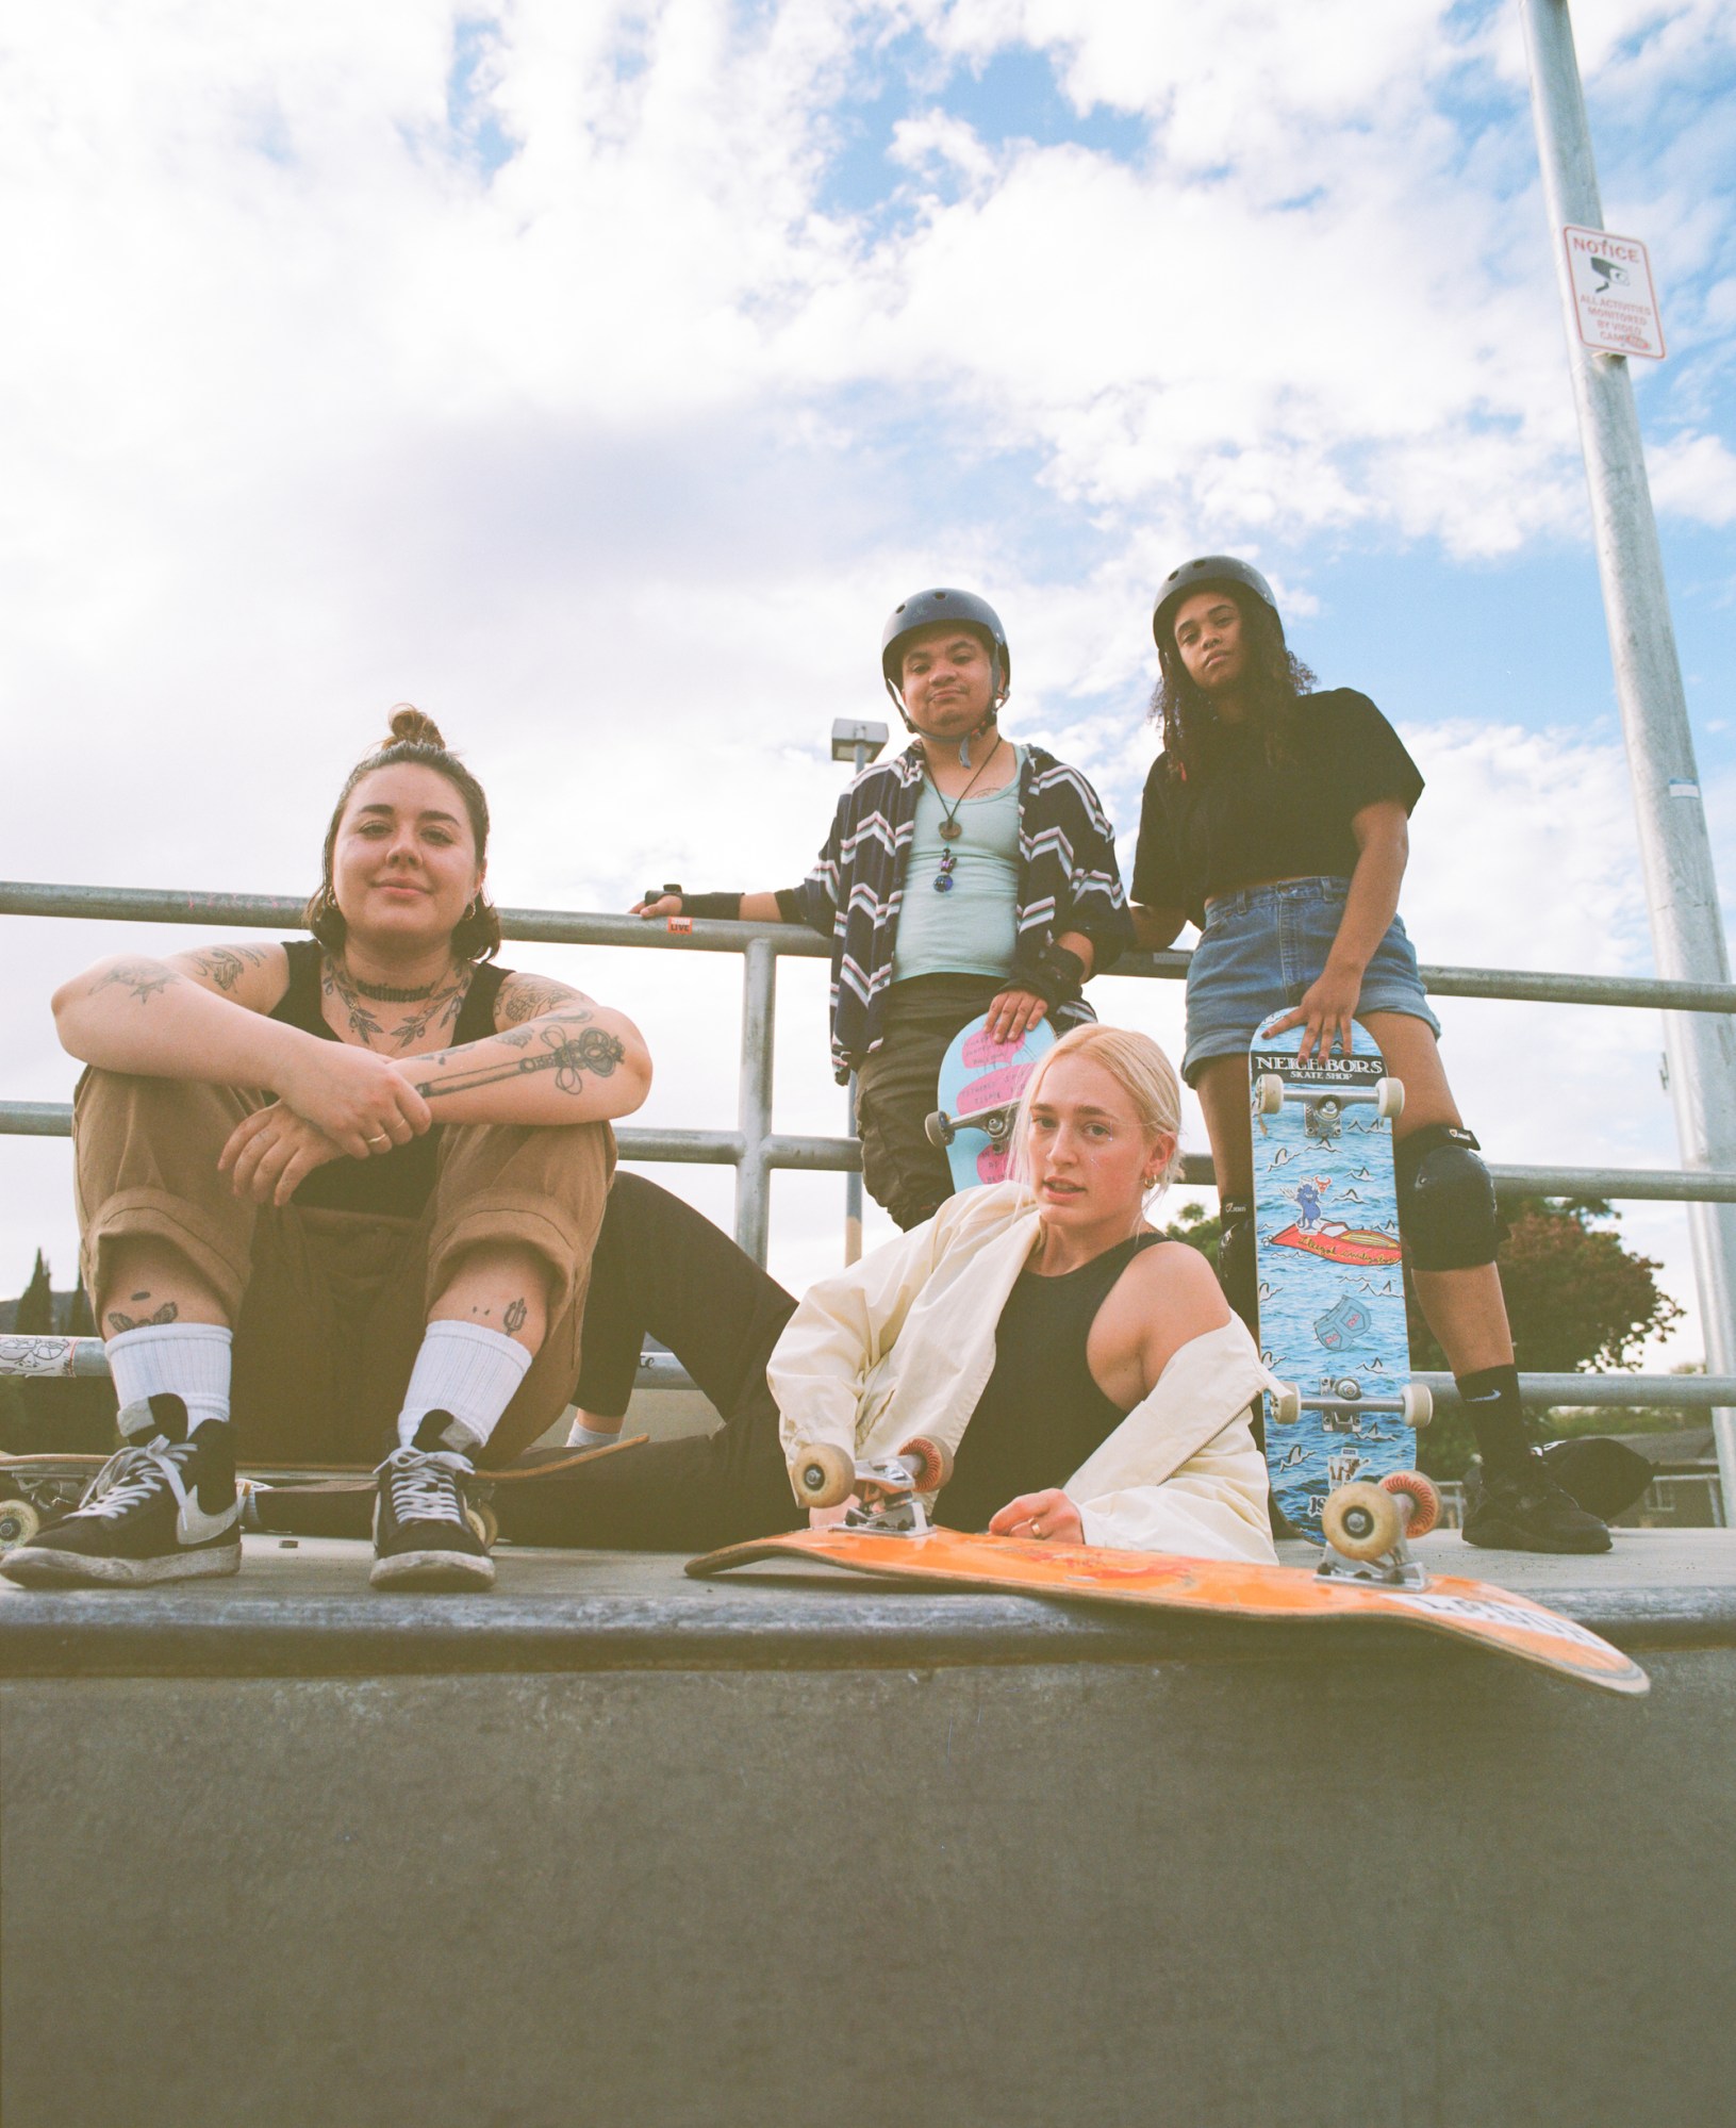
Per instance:
[[[1662,977],[1727,983],[1713,845],[1693,766],[1664,555],[1651,513],[1640,421],[1625,355],[1579,338],[1562,230],[1600,230],[1604,206],[1566,0],[1519,0],[1532,117],[1568,330],[1591,528],[1604,585],[1615,692],[1640,828],[1651,949]],[[1685,1168],[1736,1166],[1736,1028],[1721,1015],[1666,1013],[1664,1055]],[[1706,1373],[1736,1373],[1736,1207],[1691,1204],[1687,1230],[1706,1328]],[[1736,1411],[1713,1413],[1723,1498],[1736,1500]]]

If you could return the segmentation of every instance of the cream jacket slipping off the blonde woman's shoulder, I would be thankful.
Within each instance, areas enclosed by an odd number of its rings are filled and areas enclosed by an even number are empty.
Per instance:
[[[842,1277],[808,1287],[766,1368],[785,1456],[825,1441],[851,1456],[896,1456],[915,1434],[955,1449],[994,1373],[1000,1311],[1036,1230],[1023,1183],[966,1190]],[[1151,1394],[1066,1481],[1085,1543],[1276,1560],[1266,1462],[1249,1426],[1268,1383],[1234,1315],[1174,1351]]]

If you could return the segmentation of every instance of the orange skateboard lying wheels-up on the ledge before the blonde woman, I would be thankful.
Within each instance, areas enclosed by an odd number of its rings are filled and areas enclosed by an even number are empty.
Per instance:
[[[1304,1566],[1185,1560],[1159,1551],[1113,1551],[1102,1545],[1034,1543],[936,1528],[919,1498],[900,1498],[894,1475],[904,1464],[908,1477],[902,1492],[908,1494],[917,1479],[936,1473],[936,1464],[925,1462],[932,1456],[930,1443],[911,1443],[891,1464],[864,1466],[866,1492],[836,1528],[787,1530],[728,1545],[691,1560],[687,1573],[721,1575],[753,1560],[798,1558],[925,1587],[1013,1590],[1072,1602],[1145,1605],[1155,1611],[1272,1622],[1387,1619],[1517,1656],[1579,1685],[1628,1694],[1651,1688],[1645,1670],[1619,1647],[1528,1596],[1457,1575],[1428,1575],[1406,1549],[1406,1536],[1421,1536],[1438,1511],[1434,1487],[1417,1473],[1400,1473],[1385,1485],[1345,1485],[1336,1492],[1323,1517],[1328,1549],[1311,1573]],[[834,1458],[842,1458],[842,1451],[815,1449],[798,1456],[798,1492],[813,1496],[830,1490],[817,1475],[821,1468],[832,1475]],[[811,1475],[815,1483],[804,1485]],[[887,1528],[887,1504],[915,1526]]]

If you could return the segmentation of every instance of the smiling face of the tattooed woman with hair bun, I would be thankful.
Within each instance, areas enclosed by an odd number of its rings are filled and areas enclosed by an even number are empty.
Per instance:
[[[436,768],[396,762],[362,777],[332,845],[332,892],[357,945],[443,943],[481,883],[464,800]]]

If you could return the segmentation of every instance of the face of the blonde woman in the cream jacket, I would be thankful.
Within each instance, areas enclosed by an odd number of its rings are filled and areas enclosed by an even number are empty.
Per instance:
[[[1042,1075],[1025,1160],[1045,1228],[1111,1241],[1130,1234],[1149,1175],[1168,1166],[1174,1138],[1151,1132],[1121,1081],[1089,1055],[1064,1055]]]

